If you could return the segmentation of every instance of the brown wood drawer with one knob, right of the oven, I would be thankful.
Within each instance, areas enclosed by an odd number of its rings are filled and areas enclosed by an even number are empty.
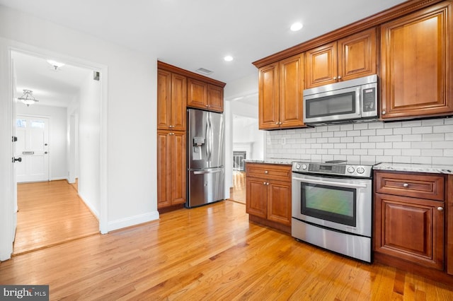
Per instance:
[[[376,172],[376,192],[444,201],[444,176],[422,173]]]

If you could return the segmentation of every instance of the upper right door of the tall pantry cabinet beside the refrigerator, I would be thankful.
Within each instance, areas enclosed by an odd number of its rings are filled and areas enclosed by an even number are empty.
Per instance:
[[[185,105],[187,103],[187,78],[171,75],[171,129],[185,131]]]

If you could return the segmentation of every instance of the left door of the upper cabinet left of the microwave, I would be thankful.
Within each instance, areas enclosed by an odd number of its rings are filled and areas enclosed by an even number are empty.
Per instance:
[[[278,64],[260,68],[258,74],[258,123],[260,129],[279,129]]]

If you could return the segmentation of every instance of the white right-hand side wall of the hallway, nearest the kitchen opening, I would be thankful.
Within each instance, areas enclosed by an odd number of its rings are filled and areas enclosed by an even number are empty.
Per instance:
[[[79,92],[79,196],[99,216],[101,210],[101,83],[86,77]],[[75,120],[74,120],[74,126]],[[77,129],[76,129],[77,130]],[[74,133],[75,134],[75,133]],[[76,138],[74,136],[74,138]],[[75,156],[75,154],[74,154]]]

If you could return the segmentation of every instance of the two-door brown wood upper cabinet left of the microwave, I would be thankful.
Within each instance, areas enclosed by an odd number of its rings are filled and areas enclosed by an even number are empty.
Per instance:
[[[289,57],[259,69],[258,119],[260,129],[304,126],[304,54]]]

